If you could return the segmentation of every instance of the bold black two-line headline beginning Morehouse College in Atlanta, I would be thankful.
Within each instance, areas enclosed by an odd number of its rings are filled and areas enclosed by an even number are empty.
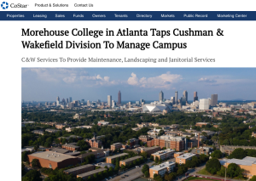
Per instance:
[[[212,37],[212,36],[224,36],[224,31],[217,29],[212,30],[182,30],[175,28],[173,30],[158,30],[151,28],[150,30],[131,30],[129,28],[119,29],[117,31],[109,30],[90,30],[89,28],[73,28],[72,31],[67,30],[31,30],[21,29],[21,36],[23,37]],[[21,41],[23,48],[122,48],[122,49],[140,49],[145,50],[148,48],[164,48],[175,50],[177,48],[188,48],[187,42],[126,42],[126,41],[102,41],[102,42],[90,42],[90,41]]]

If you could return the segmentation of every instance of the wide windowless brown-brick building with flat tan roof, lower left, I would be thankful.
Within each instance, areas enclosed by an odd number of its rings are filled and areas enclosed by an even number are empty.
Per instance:
[[[55,169],[74,166],[79,163],[78,157],[68,156],[67,154],[56,153],[53,151],[37,152],[28,155],[28,161],[31,163],[33,159],[38,159],[41,167]]]

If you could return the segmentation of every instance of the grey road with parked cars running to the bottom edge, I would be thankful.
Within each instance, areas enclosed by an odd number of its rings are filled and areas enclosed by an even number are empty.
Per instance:
[[[154,164],[154,161],[147,163],[149,167],[151,167]],[[144,165],[144,164],[143,164]],[[122,180],[122,181],[131,181],[133,179],[136,178],[140,178],[143,176],[142,173],[142,169],[143,169],[143,165],[141,165],[138,168],[131,168],[128,171],[125,171],[124,173],[116,176],[115,178],[109,179],[109,181],[118,181],[118,180]],[[125,177],[125,175],[129,175],[128,177]],[[124,178],[122,178],[124,177]]]

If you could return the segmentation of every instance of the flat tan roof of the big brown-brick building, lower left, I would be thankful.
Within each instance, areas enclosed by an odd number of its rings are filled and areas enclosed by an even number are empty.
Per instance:
[[[66,154],[56,153],[53,151],[41,151],[41,152],[33,153],[29,156],[35,156],[38,158],[43,158],[44,160],[55,161],[55,162],[61,162],[67,159],[76,158],[75,156],[68,156]]]

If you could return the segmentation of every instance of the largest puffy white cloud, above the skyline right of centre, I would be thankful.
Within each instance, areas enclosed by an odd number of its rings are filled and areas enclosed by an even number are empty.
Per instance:
[[[170,71],[166,74],[154,77],[142,77],[138,78],[135,73],[131,73],[131,77],[128,78],[128,84],[132,86],[139,86],[141,88],[172,88],[172,84],[181,81],[183,78],[181,75],[171,74]]]

